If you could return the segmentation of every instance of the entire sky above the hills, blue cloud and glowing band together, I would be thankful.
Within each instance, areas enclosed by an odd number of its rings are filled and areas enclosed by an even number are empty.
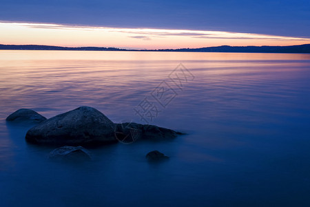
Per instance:
[[[310,43],[310,1],[1,0],[0,43],[118,48]]]

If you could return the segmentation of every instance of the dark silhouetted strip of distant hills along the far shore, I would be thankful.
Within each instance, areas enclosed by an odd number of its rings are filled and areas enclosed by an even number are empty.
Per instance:
[[[90,51],[161,51],[161,52],[262,52],[262,53],[310,53],[310,44],[300,46],[218,46],[208,48],[181,48],[162,50],[126,50],[102,47],[58,47],[37,45],[1,45],[0,50],[90,50]]]

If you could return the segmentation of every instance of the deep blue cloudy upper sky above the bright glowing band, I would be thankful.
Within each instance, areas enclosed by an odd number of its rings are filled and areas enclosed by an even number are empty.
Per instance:
[[[310,1],[1,0],[0,21],[310,37]]]

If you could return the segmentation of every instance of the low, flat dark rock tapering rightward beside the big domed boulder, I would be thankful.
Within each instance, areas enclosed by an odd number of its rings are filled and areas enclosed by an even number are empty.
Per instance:
[[[183,135],[163,127],[148,124],[136,124],[134,122],[116,124],[116,139],[121,142],[130,143],[138,139],[147,139],[150,141],[163,141]]]

